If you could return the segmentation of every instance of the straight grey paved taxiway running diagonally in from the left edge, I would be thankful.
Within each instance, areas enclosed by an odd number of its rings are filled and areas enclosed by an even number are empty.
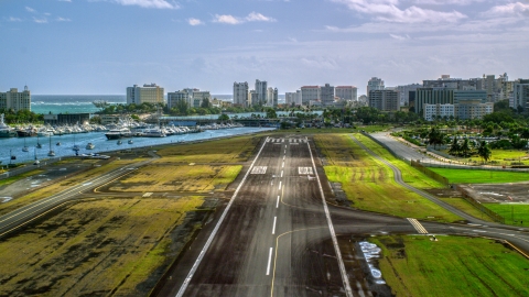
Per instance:
[[[149,154],[156,158],[158,156],[153,152],[149,152]],[[39,218],[42,213],[45,213],[62,204],[75,199],[79,196],[80,193],[93,189],[100,185],[105,185],[110,180],[114,180],[122,175],[130,173],[131,170],[137,169],[140,166],[143,166],[148,163],[152,162],[152,160],[147,160],[142,162],[138,162],[136,164],[131,164],[128,166],[123,166],[117,168],[115,170],[108,172],[104,175],[99,175],[93,177],[90,179],[85,180],[83,184],[75,185],[66,190],[63,190],[56,195],[53,195],[48,198],[41,199],[31,205],[21,207],[14,211],[11,211],[2,217],[0,217],[0,237],[9,233],[10,231]]]

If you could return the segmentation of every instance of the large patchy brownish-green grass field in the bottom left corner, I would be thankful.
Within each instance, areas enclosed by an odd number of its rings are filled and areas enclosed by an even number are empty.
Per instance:
[[[145,296],[202,197],[85,200],[0,242],[0,295]],[[180,239],[181,248],[187,239]],[[154,277],[159,277],[155,276]],[[152,284],[151,284],[152,287]]]

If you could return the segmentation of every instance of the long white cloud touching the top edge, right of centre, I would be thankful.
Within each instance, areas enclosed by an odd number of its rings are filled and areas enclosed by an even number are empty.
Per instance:
[[[458,11],[443,12],[415,6],[400,9],[399,0],[332,0],[347,6],[350,10],[373,15],[378,21],[396,23],[445,23],[467,18]]]

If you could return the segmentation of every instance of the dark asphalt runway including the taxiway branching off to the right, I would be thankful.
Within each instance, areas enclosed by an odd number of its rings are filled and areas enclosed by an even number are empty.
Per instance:
[[[367,274],[355,275],[346,263],[344,277],[322,199],[332,194],[310,150],[315,154],[305,138],[267,139],[225,212],[185,251],[158,296],[373,296]],[[421,223],[337,206],[328,213],[342,246],[347,239],[390,233],[463,234],[509,240],[529,251],[525,230],[474,218]]]

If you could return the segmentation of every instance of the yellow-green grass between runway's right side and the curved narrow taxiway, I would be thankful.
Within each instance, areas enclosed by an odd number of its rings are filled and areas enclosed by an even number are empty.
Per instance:
[[[324,169],[328,180],[341,183],[353,207],[404,218],[443,222],[461,220],[395,183],[392,170],[368,155],[349,135],[315,135],[314,140],[325,156]],[[417,172],[413,178],[419,179],[419,174]]]

